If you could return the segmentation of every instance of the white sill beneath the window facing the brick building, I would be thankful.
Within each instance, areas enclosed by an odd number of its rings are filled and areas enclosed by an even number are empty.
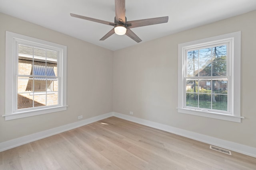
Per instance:
[[[57,112],[57,111],[64,111],[67,109],[68,106],[56,106],[56,107],[48,107],[48,108],[40,108],[40,109],[33,109],[31,111],[19,111],[15,112],[12,114],[6,114],[2,115],[5,117],[5,120],[13,120],[13,119],[20,119],[23,117],[30,117],[30,116],[35,116],[35,115],[42,115],[42,114],[47,114],[47,113],[52,113],[52,112]]]

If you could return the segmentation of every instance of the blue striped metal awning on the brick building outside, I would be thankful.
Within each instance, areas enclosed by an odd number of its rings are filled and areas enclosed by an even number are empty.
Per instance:
[[[52,66],[42,66],[33,65],[33,75],[37,76],[56,76],[54,72],[54,67]],[[46,78],[35,78],[35,80],[46,80]],[[57,80],[57,78],[47,78],[47,80]]]

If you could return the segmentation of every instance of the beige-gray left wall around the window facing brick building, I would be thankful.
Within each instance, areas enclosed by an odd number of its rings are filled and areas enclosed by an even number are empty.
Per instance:
[[[66,111],[5,121],[0,143],[112,112],[113,51],[0,13],[0,115],[5,114],[5,31],[67,46]],[[8,95],[8,94],[7,94]],[[82,120],[82,119],[80,119]]]

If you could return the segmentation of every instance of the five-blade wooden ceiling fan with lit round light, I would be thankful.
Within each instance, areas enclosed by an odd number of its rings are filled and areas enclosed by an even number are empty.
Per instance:
[[[144,20],[127,21],[125,16],[125,0],[115,0],[115,11],[116,11],[116,16],[114,18],[114,22],[98,20],[95,18],[80,16],[72,13],[70,13],[70,16],[114,26],[113,29],[111,29],[106,35],[104,35],[100,39],[101,41],[107,39],[108,37],[116,33],[118,35],[126,34],[128,37],[130,37],[131,39],[139,43],[142,40],[130,28],[143,27],[147,25],[155,25],[158,23],[168,22],[168,16],[158,17],[158,18],[149,18]]]

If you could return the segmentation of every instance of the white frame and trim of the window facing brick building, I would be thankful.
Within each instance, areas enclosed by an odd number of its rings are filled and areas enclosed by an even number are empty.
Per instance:
[[[18,42],[34,46],[46,47],[58,51],[58,105],[17,109],[17,82],[18,69],[17,47]],[[6,78],[5,78],[5,120],[30,117],[56,111],[66,110],[66,67],[67,47],[56,43],[20,35],[6,31]]]

